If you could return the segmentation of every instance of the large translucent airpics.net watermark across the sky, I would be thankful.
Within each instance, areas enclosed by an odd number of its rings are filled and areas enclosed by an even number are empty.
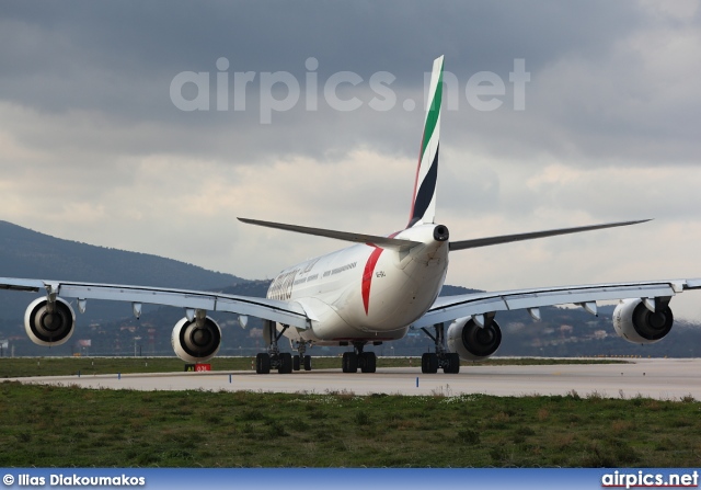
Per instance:
[[[397,77],[389,71],[376,71],[364,79],[353,71],[336,71],[325,80],[319,79],[319,60],[307,58],[303,80],[289,71],[233,71],[225,57],[217,59],[215,77],[209,71],[181,71],[171,81],[170,95],[173,105],[181,111],[245,111],[251,92],[258,96],[261,124],[271,124],[273,113],[290,111],[303,99],[306,111],[318,111],[320,99],[330,109],[342,112],[357,111],[367,104],[374,111],[391,111],[398,106],[398,95],[392,89]],[[444,71],[444,110],[457,111],[464,95],[470,107],[476,111],[496,111],[510,96],[514,111],[526,110],[526,83],[530,72],[526,60],[514,59],[514,69],[508,73],[508,83],[493,71],[478,71],[466,82]],[[367,83],[372,98],[364,102],[348,89],[364,89]],[[424,98],[427,96],[430,72],[424,73]],[[249,91],[251,89],[251,91]],[[231,96],[232,95],[232,96]],[[425,107],[424,104],[421,109]],[[416,101],[401,101],[404,111],[417,109]]]

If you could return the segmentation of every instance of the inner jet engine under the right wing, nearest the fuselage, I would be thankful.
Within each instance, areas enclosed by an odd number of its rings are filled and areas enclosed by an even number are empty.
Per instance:
[[[502,344],[502,329],[494,320],[479,327],[472,318],[460,318],[448,327],[446,342],[450,352],[466,361],[480,361],[494,354]]]

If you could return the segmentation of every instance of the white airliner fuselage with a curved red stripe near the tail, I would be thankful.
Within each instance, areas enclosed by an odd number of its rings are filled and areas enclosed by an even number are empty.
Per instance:
[[[446,278],[448,242],[434,239],[435,227],[392,235],[421,242],[411,249],[356,244],[284,270],[267,297],[296,301],[311,319],[310,329],[289,328],[285,335],[330,345],[404,337]]]

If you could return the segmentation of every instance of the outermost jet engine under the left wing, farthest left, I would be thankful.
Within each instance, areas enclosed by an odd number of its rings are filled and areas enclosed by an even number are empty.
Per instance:
[[[53,306],[48,299],[36,298],[24,312],[24,330],[37,345],[60,345],[73,334],[76,314],[70,305],[56,298]]]

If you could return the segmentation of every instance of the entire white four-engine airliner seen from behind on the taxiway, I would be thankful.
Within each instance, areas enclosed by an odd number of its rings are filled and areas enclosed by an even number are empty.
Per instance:
[[[83,312],[88,299],[129,301],[137,318],[142,304],[184,308],[184,318],[173,328],[172,344],[175,354],[189,363],[205,362],[219,351],[221,329],[208,311],[235,314],[242,327],[249,316],[258,317],[264,320],[267,343],[266,352],[256,356],[260,374],[272,368],[279,373],[310,371],[307,350],[313,345],[347,346],[343,372],[374,373],[376,355],[365,347],[401,339],[410,328],[422,329],[430,339],[422,356],[423,373],[458,373],[460,360],[481,360],[497,351],[502,341],[499,311],[526,309],[539,320],[539,308],[552,305],[574,304],[596,315],[597,301],[620,300],[613,329],[624,340],[647,344],[667,335],[674,321],[671,297],[700,288],[701,278],[438,296],[451,252],[643,223],[450,240],[448,227],[435,220],[443,65],[443,56],[434,61],[409,223],[399,231],[376,236],[239,218],[245,224],[353,243],[285,269],[271,284],[266,298],[30,278],[0,278],[0,288],[42,293],[24,316],[27,335],[41,345],[65,343],[76,326],[71,305]],[[283,335],[298,355],[280,351]]]

